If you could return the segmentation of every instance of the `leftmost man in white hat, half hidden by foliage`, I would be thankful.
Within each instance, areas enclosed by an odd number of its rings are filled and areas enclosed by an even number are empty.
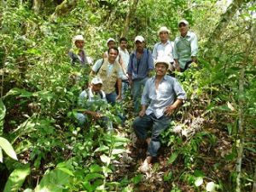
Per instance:
[[[88,60],[84,51],[84,37],[82,35],[73,37],[73,43],[75,48],[72,48],[68,53],[71,58],[72,65],[88,65]]]

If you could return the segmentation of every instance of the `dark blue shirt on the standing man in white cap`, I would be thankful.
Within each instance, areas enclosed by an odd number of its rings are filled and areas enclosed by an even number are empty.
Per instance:
[[[143,49],[141,59],[137,59],[137,51],[134,51],[129,59],[128,74],[131,75],[132,80],[143,79],[148,76],[150,70],[154,70],[154,61],[152,54],[147,48]]]

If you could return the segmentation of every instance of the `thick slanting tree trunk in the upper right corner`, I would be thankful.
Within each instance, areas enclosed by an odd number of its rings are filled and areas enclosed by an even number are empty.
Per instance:
[[[219,37],[222,35],[223,31],[225,31],[227,25],[230,23],[230,20],[232,20],[238,8],[241,8],[243,3],[247,3],[247,0],[234,0],[233,3],[231,3],[227,8],[227,11],[221,15],[218,25],[215,27],[215,30],[212,32],[207,41],[207,48],[212,48],[212,46],[218,42]]]

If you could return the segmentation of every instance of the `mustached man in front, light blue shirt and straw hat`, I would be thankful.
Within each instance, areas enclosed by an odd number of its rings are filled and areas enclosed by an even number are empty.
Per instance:
[[[143,89],[142,110],[133,122],[132,127],[137,138],[148,144],[147,158],[139,168],[147,172],[153,157],[160,149],[160,133],[168,127],[172,114],[186,99],[186,93],[177,79],[167,76],[170,63],[166,60],[155,62],[156,75],[149,78]],[[148,107],[147,107],[148,106]],[[147,129],[152,127],[152,136],[148,138]]]

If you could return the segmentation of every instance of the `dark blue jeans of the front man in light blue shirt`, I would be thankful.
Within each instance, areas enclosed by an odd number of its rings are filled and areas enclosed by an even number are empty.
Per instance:
[[[147,129],[152,127],[151,141],[148,144],[147,154],[150,156],[157,156],[157,151],[160,149],[160,133],[169,126],[171,121],[170,116],[161,116],[159,119],[153,113],[143,117],[138,116],[133,122],[132,127],[137,135],[137,138],[146,139]]]

